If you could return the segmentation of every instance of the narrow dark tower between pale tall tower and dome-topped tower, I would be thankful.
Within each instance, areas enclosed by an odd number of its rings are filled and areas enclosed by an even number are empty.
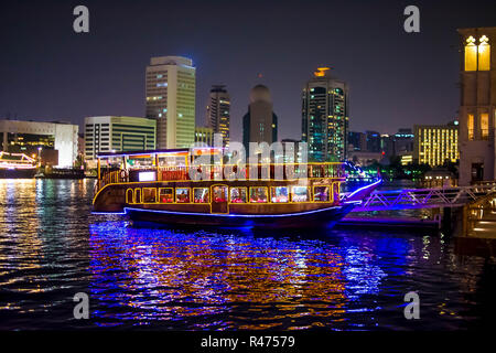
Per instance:
[[[223,135],[223,145],[229,146],[230,97],[226,86],[214,85],[206,108],[206,126]]]

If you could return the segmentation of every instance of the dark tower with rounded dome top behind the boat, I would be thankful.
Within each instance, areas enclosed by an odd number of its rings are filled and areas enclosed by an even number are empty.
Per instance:
[[[248,113],[242,117],[242,143],[249,153],[249,142],[267,142],[278,140],[278,117],[273,113],[269,88],[257,85],[251,88]]]

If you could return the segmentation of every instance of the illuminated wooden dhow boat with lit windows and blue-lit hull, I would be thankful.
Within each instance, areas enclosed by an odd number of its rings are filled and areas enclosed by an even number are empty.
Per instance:
[[[196,162],[219,153],[198,148],[99,154],[94,213],[194,226],[332,226],[375,188],[339,200],[342,163]]]

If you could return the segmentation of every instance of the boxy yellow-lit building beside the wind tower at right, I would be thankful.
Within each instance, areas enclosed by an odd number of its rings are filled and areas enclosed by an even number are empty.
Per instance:
[[[448,125],[414,125],[413,159],[419,164],[456,163],[459,153],[457,121]]]

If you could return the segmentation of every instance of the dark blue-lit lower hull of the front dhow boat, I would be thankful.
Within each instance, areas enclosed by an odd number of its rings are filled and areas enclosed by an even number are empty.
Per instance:
[[[134,222],[163,225],[195,227],[260,227],[269,229],[315,228],[332,227],[336,222],[349,213],[353,206],[353,204],[344,204],[309,212],[272,215],[198,214],[125,207],[125,214]]]

